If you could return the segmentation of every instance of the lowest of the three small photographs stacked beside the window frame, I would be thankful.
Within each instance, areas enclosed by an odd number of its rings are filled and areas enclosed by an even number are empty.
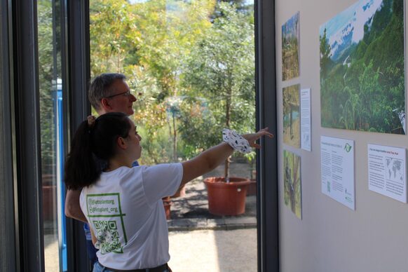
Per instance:
[[[283,150],[283,197],[285,205],[301,219],[300,156]]]

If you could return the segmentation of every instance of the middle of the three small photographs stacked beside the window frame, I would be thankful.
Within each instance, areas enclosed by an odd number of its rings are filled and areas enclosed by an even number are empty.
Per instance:
[[[283,142],[300,147],[299,84],[283,88]]]

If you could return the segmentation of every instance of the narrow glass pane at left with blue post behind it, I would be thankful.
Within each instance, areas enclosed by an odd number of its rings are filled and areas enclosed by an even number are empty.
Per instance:
[[[60,2],[37,2],[44,257],[46,271],[67,271],[62,177]]]

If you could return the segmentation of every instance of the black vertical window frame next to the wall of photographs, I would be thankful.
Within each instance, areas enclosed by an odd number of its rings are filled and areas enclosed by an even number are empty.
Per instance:
[[[254,7],[257,129],[268,127],[275,135],[273,140],[261,140],[263,149],[257,152],[258,271],[278,272],[275,0],[256,0]]]

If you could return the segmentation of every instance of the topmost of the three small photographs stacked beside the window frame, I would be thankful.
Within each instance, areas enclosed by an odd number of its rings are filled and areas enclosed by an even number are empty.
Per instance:
[[[282,80],[299,76],[299,12],[282,25]]]

